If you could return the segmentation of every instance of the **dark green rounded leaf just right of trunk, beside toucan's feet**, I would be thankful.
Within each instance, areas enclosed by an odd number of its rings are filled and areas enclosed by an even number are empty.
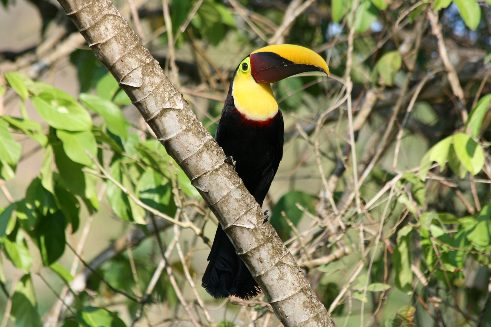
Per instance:
[[[300,191],[285,194],[274,206],[273,214],[270,217],[270,223],[276,229],[282,240],[289,238],[292,227],[288,225],[281,215],[281,212],[284,211],[288,219],[297,226],[303,215],[303,211],[299,209],[297,203],[312,212],[312,197]]]

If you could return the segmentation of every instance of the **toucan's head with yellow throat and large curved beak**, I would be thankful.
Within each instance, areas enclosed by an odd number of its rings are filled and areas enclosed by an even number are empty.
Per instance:
[[[273,118],[278,104],[269,83],[303,72],[329,75],[329,68],[316,52],[291,44],[267,46],[252,52],[239,64],[232,80],[235,107],[250,120]]]

